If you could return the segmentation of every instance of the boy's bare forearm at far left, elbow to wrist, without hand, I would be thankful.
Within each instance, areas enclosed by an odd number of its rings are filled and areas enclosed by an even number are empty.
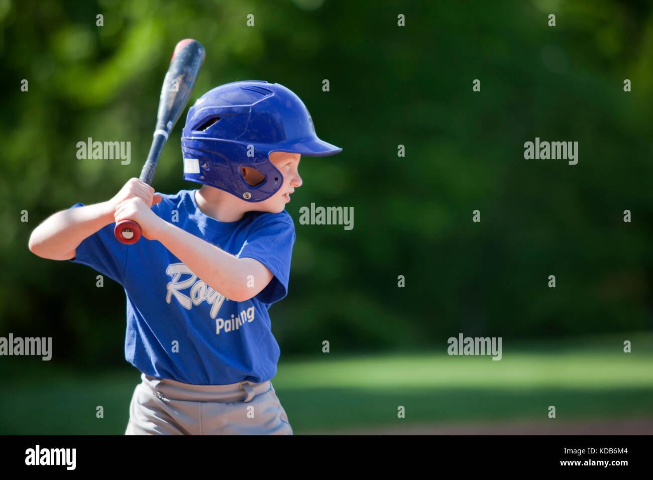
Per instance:
[[[85,238],[113,221],[108,202],[61,210],[34,229],[29,249],[39,257],[65,259]]]

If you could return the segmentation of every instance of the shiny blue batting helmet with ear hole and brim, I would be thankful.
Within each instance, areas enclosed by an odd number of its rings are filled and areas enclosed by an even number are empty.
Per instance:
[[[283,185],[271,152],[322,157],[341,151],[317,138],[311,115],[291,90],[261,80],[232,82],[204,93],[188,111],[183,178],[261,202]],[[263,182],[247,184],[242,167],[259,170]]]

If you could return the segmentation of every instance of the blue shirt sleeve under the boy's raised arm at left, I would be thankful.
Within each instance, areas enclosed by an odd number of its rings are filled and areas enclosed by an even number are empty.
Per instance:
[[[71,208],[80,206],[84,206],[84,204],[76,203]],[[71,262],[88,265],[122,285],[128,251],[129,246],[116,239],[114,223],[110,223],[82,240],[82,243],[76,248],[75,257],[71,259]]]

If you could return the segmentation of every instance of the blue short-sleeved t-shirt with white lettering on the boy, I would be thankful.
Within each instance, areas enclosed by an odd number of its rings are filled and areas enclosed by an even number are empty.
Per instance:
[[[200,211],[195,190],[161,196],[152,206],[157,216],[236,257],[257,259],[274,278],[257,296],[235,302],[208,287],[161,242],[141,237],[125,245],[114,236],[116,224],[106,225],[78,246],[71,261],[125,288],[125,358],[144,374],[194,385],[272,379],[279,345],[268,308],[287,293],[292,217],[285,210],[247,212],[224,223]],[[78,206],[84,205],[71,208]]]

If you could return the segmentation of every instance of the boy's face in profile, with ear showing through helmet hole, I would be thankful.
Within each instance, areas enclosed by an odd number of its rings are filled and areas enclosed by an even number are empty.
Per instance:
[[[267,200],[251,204],[252,210],[257,212],[270,212],[278,214],[283,212],[285,204],[290,201],[290,194],[297,187],[302,185],[302,178],[299,176],[299,160],[302,157],[299,153],[272,152],[269,155],[270,162],[283,175],[283,185],[281,188]],[[246,182],[250,185],[256,185],[263,181],[263,174],[252,168],[244,167],[242,174]]]

